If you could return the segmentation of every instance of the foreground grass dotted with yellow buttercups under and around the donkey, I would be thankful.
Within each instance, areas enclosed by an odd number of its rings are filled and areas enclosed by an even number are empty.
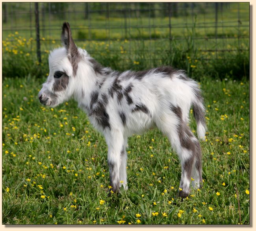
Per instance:
[[[201,78],[204,184],[184,201],[176,197],[178,157],[156,129],[130,137],[128,191],[107,197],[104,138],[74,101],[42,107],[43,81],[28,76],[2,83],[3,224],[250,224],[249,81]]]

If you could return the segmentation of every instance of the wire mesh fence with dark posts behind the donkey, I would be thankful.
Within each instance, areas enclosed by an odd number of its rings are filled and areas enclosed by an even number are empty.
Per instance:
[[[163,47],[173,44],[200,52],[249,50],[249,2],[40,2],[3,3],[3,39],[16,31],[33,38],[31,53],[42,53],[60,45],[61,25],[68,21],[78,46],[91,54],[143,53],[145,59],[161,59]],[[122,46],[120,46],[122,42]],[[97,49],[96,49],[97,48]]]

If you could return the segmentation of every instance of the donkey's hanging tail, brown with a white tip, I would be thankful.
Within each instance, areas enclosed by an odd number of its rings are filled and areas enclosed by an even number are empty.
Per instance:
[[[204,100],[201,96],[200,89],[194,89],[195,100],[193,100],[193,114],[197,122],[197,135],[201,140],[205,140],[205,131],[206,131],[206,120],[205,120],[205,108]]]

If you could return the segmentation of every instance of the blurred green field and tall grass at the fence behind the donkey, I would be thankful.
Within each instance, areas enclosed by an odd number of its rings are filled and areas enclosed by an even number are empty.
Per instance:
[[[113,69],[173,65],[196,79],[249,79],[249,3],[41,3],[40,64],[33,4],[5,6],[4,77],[48,73],[48,53],[61,46],[65,19],[76,44]]]

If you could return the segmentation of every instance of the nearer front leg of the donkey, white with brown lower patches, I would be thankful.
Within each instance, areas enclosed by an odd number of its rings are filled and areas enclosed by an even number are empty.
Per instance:
[[[106,142],[108,144],[108,167],[110,186],[113,192],[119,191],[120,183],[120,167],[121,167],[121,153],[124,145],[124,137],[121,131],[109,131],[105,134]]]

